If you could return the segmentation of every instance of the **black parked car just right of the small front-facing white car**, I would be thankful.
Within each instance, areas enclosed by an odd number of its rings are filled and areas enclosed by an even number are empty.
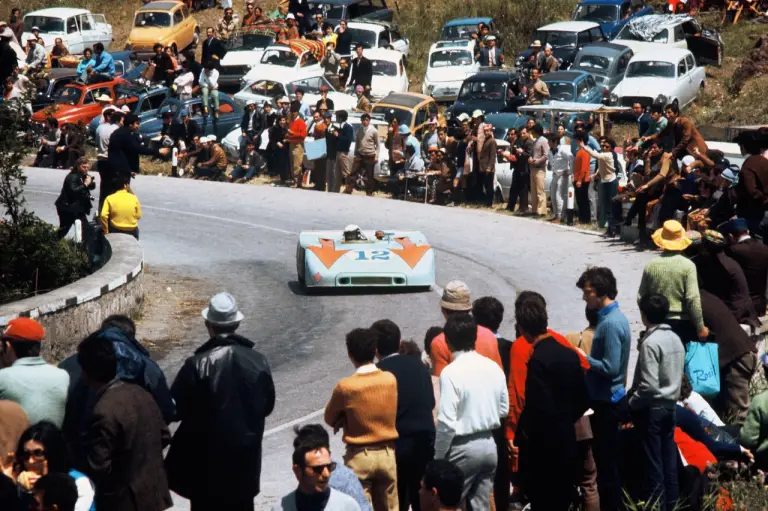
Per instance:
[[[456,102],[445,111],[453,122],[459,115],[472,115],[475,110],[484,114],[516,112],[525,104],[520,76],[510,69],[480,71],[464,80]]]

